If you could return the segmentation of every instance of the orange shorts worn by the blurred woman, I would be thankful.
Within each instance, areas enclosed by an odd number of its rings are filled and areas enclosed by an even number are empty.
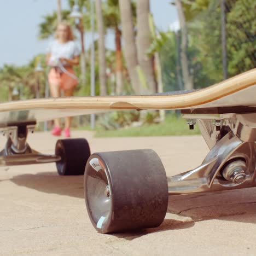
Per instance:
[[[65,67],[65,69],[69,73],[75,75],[74,69],[72,67]],[[59,72],[56,68],[50,69],[50,72],[48,74],[48,81],[50,84],[60,86],[60,88],[62,88],[63,90],[68,90],[77,86],[77,79],[74,79],[73,77],[64,72]]]

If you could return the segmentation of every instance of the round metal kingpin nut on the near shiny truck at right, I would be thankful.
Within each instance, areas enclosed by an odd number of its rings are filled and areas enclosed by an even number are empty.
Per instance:
[[[242,160],[235,160],[228,164],[222,172],[227,181],[241,184],[246,180],[246,163]]]

